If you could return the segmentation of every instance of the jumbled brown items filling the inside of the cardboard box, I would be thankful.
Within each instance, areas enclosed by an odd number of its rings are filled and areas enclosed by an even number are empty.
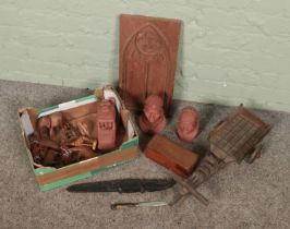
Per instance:
[[[76,118],[70,119],[69,113]],[[28,138],[33,158],[43,166],[59,168],[111,150],[117,144],[116,120],[113,99],[40,117]],[[124,135],[121,125],[118,134]]]

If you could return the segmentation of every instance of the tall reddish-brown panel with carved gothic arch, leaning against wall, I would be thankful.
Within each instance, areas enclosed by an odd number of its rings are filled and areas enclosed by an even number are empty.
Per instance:
[[[169,113],[174,87],[181,21],[120,16],[119,89],[129,109],[158,95]]]

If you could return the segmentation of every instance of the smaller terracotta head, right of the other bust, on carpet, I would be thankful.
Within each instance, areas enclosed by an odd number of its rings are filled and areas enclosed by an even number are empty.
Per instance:
[[[177,132],[180,140],[192,142],[200,130],[198,112],[193,107],[184,107],[179,116]]]

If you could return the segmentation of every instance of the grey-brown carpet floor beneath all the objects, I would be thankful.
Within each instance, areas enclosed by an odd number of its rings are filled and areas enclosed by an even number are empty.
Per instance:
[[[289,228],[290,113],[254,110],[273,123],[264,152],[254,164],[231,164],[198,188],[209,205],[194,197],[173,207],[111,210],[112,202],[170,201],[174,189],[156,193],[74,194],[61,186],[40,192],[17,122],[17,109],[44,108],[88,95],[86,89],[0,81],[0,228]],[[186,148],[204,154],[207,136],[235,108],[174,100],[173,118],[164,134],[174,134],[179,110],[188,105],[201,113],[201,133]],[[238,105],[237,105],[238,106]],[[148,136],[141,136],[141,146]],[[118,178],[168,178],[169,172],[143,154],[134,162],[81,182]]]

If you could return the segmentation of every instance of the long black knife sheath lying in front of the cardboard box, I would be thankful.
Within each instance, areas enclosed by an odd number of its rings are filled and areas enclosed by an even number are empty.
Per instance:
[[[69,192],[156,192],[167,190],[176,184],[173,179],[120,179],[74,184]]]

